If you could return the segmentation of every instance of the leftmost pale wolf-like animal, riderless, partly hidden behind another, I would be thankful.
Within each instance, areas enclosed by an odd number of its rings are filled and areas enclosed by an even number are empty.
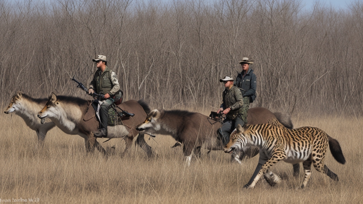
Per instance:
[[[39,120],[37,117],[39,109],[44,107],[47,99],[34,99],[20,91],[12,97],[8,108],[4,113],[9,114],[14,112],[16,115],[23,118],[26,125],[32,130],[35,130],[38,137],[38,142],[42,143],[45,139],[46,133],[52,129],[56,124],[53,122],[45,123],[45,120]],[[42,122],[42,123],[41,123]]]

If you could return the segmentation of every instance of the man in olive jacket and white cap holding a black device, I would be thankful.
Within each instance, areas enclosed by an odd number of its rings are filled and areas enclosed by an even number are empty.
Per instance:
[[[233,86],[234,80],[229,76],[225,76],[224,79],[220,79],[219,81],[223,82],[225,87],[225,90],[223,91],[223,103],[217,111],[217,113],[223,111],[223,114],[226,115],[222,127],[218,129],[219,136],[221,137],[224,146],[228,143],[229,135],[237,125],[241,124],[243,126],[245,122],[239,117],[243,108],[242,92],[239,88]]]

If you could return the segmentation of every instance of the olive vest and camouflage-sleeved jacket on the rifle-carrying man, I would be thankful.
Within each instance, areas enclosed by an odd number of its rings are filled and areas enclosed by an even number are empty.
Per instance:
[[[90,89],[91,88],[96,93],[108,93],[112,96],[120,90],[120,84],[118,83],[116,73],[106,66],[103,73],[101,73],[100,69],[94,73],[93,80],[90,83]]]

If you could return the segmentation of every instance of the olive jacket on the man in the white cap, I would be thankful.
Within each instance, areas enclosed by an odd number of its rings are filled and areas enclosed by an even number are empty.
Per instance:
[[[240,108],[243,106],[243,97],[241,90],[235,86],[231,89],[225,89],[223,91],[223,103],[220,108],[231,108],[231,111],[227,113],[227,117],[235,119],[240,112]]]

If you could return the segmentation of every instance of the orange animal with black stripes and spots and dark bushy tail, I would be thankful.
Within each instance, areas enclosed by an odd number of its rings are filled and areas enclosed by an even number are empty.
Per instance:
[[[328,143],[334,159],[344,164],[346,161],[338,141],[321,129],[313,127],[287,129],[282,125],[272,124],[245,125],[244,127],[237,125],[224,151],[231,152],[234,148],[242,148],[246,144],[260,148],[262,162],[259,161],[256,168],[259,171],[244,186],[246,188],[254,188],[262,175],[272,186],[280,183],[280,177],[269,172],[269,169],[280,160],[291,164],[303,162],[305,177],[301,188],[304,188],[311,176],[311,164],[318,172],[325,173],[335,181],[339,180],[338,175],[324,164]]]

